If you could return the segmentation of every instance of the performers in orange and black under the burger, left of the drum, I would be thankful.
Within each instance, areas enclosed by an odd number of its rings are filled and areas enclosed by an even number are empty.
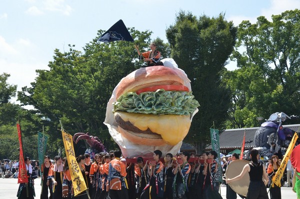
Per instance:
[[[177,154],[177,158],[168,153],[162,159],[161,155],[161,151],[155,150],[153,160],[138,157],[136,163],[127,162],[120,150],[95,154],[93,161],[89,154],[79,155],[76,160],[88,189],[76,196],[66,158],[55,156],[52,164],[50,157],[45,156],[40,198],[190,198],[195,195],[208,198],[211,190],[218,191],[215,151],[204,152],[193,164],[188,163],[188,152]],[[29,181],[27,185],[20,183],[17,196],[34,198],[37,175],[29,157],[25,157],[25,164]]]

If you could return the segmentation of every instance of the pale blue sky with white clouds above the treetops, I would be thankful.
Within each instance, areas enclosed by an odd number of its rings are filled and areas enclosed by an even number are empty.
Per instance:
[[[300,8],[300,0],[1,0],[0,4],[0,74],[9,73],[9,84],[17,90],[30,86],[36,69],[48,69],[54,49],[75,49],[96,37],[97,30],[107,30],[119,19],[126,27],[153,32],[167,42],[165,29],[175,21],[180,10],[194,16],[216,17],[225,13],[237,26],[242,20],[256,22],[259,16],[270,20],[286,10]],[[180,67],[180,66],[179,66]],[[234,69],[234,63],[228,69]]]

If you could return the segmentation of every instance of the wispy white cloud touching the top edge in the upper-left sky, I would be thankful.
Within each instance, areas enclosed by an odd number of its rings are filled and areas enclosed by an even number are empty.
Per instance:
[[[65,0],[45,0],[43,4],[45,10],[60,12],[67,16],[69,16],[72,11],[72,8],[65,4]]]

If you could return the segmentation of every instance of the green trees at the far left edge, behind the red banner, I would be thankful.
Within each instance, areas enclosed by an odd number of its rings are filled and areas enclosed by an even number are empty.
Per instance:
[[[7,79],[9,74],[0,75],[0,159],[19,158],[19,143],[17,138],[16,122],[22,121],[22,137],[24,155],[37,158],[36,125],[38,116],[34,111],[21,108],[19,105],[10,103],[9,100],[15,96],[16,85],[9,85]],[[36,141],[35,141],[36,140]]]

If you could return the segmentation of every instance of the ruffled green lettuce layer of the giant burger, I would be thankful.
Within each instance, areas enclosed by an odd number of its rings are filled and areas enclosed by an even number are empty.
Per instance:
[[[144,92],[137,95],[128,92],[113,103],[113,112],[126,111],[153,115],[190,115],[199,105],[191,92],[165,91]]]

